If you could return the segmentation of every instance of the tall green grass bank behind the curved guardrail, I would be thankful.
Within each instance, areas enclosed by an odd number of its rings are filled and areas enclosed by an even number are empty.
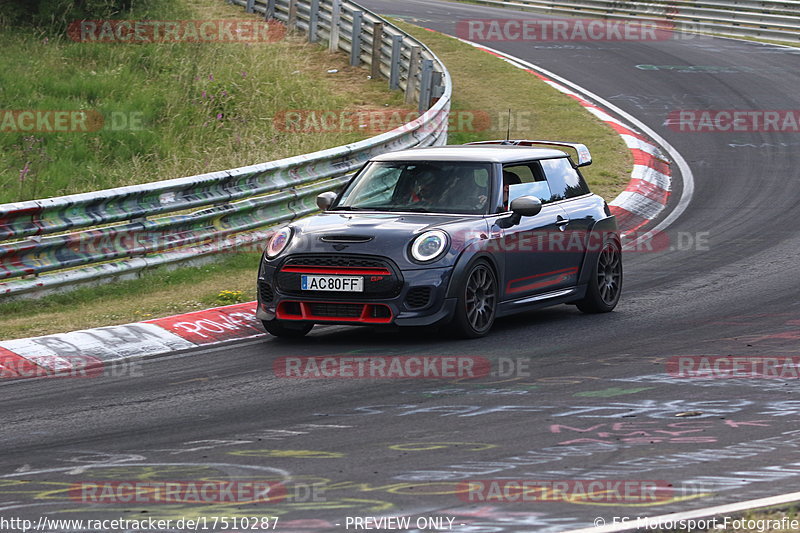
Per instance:
[[[222,0],[169,0],[127,18],[144,16],[259,19]],[[337,76],[311,53],[318,48],[299,37],[131,45],[14,28],[0,33],[0,49],[0,109],[84,110],[105,119],[97,132],[0,131],[0,203],[235,168],[364,137],[293,135],[273,125],[287,108],[352,105],[331,88]]]

